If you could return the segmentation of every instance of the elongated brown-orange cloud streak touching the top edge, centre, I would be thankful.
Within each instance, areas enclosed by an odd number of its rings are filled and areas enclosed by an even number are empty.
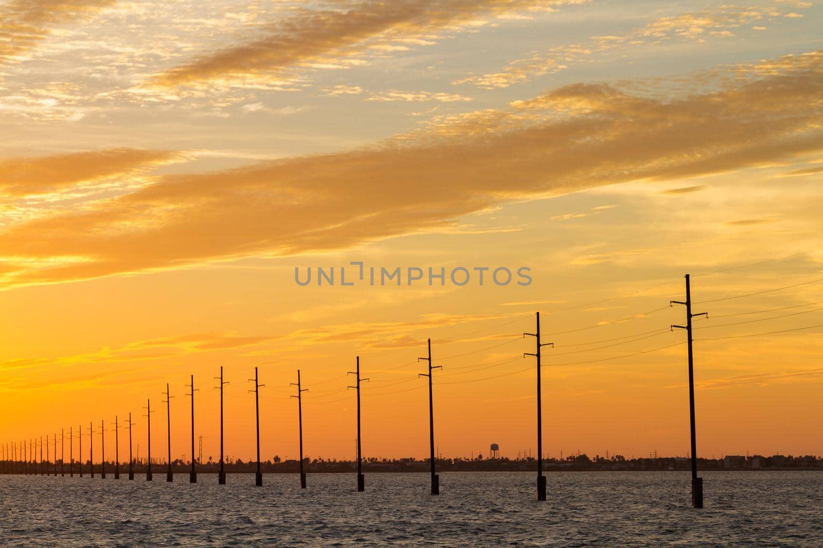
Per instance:
[[[500,16],[561,3],[579,0],[364,0],[337,2],[339,9],[301,7],[264,29],[262,37],[203,55],[156,75],[153,82],[176,87],[266,79],[290,67],[347,67],[367,51],[379,55],[406,50],[416,45],[415,40],[430,42],[422,33],[469,23],[480,15]]]

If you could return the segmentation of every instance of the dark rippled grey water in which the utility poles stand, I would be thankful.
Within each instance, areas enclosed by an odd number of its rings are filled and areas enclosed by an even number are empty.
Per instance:
[[[0,476],[0,544],[57,546],[823,546],[823,472]]]

